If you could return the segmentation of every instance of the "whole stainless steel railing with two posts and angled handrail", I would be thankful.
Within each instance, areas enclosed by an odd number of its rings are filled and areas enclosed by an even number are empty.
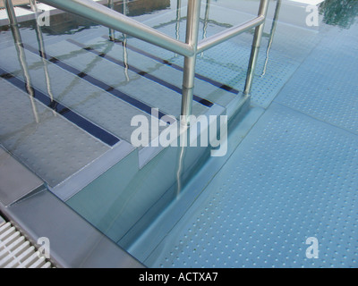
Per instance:
[[[11,0],[5,0],[5,4]],[[155,46],[160,46],[175,54],[184,56],[183,66],[183,98],[182,115],[188,118],[192,114],[192,97],[195,79],[196,56],[210,47],[217,46],[230,38],[234,38],[243,32],[255,28],[252,41],[250,62],[247,70],[245,88],[243,95],[250,95],[253,74],[255,71],[257,58],[260,49],[262,31],[268,11],[268,0],[260,0],[258,16],[246,21],[243,24],[226,29],[217,35],[198,40],[200,22],[200,0],[188,0],[186,40],[185,43],[178,39],[171,38],[166,34],[152,29],[139,21],[132,20],[124,14],[91,0],[40,0],[66,12],[75,13],[90,21],[106,26],[109,29],[120,31],[134,38],[140,38]],[[6,8],[8,8],[6,6]],[[9,10],[11,10],[9,8]],[[14,13],[9,13],[9,18]]]

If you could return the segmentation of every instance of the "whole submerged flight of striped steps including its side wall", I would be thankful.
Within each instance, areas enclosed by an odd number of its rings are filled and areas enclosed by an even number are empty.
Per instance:
[[[53,129],[50,126],[48,130],[61,134],[61,140],[58,140],[58,135],[55,137],[50,133],[47,136],[44,132],[31,141],[35,148],[38,147],[35,158],[30,157],[30,151],[18,154],[16,148],[13,148],[13,155],[20,158],[23,164],[27,164],[26,160],[31,161],[30,169],[40,174],[39,177],[47,182],[55,196],[72,206],[111,240],[128,247],[177,197],[181,190],[176,184],[180,165],[185,167],[180,181],[184,183],[189,180],[198,161],[207,156],[207,149],[192,148],[181,158],[179,147],[135,149],[129,143],[132,130],[136,128],[131,127],[134,115],[145,116],[150,122],[151,107],[158,107],[162,114],[175,117],[180,115],[183,77],[180,69],[166,63],[166,60],[159,63],[158,59],[142,51],[138,53],[138,50],[128,49],[130,68],[126,71],[123,65],[124,48],[120,42],[108,42],[102,37],[88,42],[77,39],[75,42],[77,35],[68,38],[72,40],[62,40],[55,45],[51,45],[50,41],[45,43],[46,56],[40,56],[37,45],[28,42],[23,44],[23,53],[35,94],[47,98],[47,101],[41,101],[35,96],[36,105],[41,106],[44,113],[48,114],[48,121],[58,118],[59,121],[71,123],[73,134],[68,132],[71,129]],[[84,44],[79,45],[80,42]],[[16,49],[4,46],[2,52],[8,55],[0,58],[0,67],[7,72],[3,73],[4,82],[12,84],[6,77],[22,80],[22,87],[13,87],[16,91],[14,89],[9,92],[9,96],[18,93],[20,88],[22,90],[19,96],[31,99],[23,89],[25,80],[21,65],[14,60],[18,58]],[[127,75],[130,82],[127,81]],[[200,75],[197,82],[194,114],[234,114],[236,107],[243,107],[244,113],[244,109],[248,108],[249,99],[237,96],[236,91],[229,90],[225,84],[217,82],[215,85],[213,80],[200,78]],[[48,98],[53,98],[55,103],[63,106],[62,110],[71,110],[107,131],[119,139],[119,142],[109,145],[93,138],[89,131],[83,130],[75,122],[68,122],[55,106],[50,105]],[[5,99],[4,97],[6,103]],[[13,108],[9,112],[11,110]],[[33,116],[30,111],[28,106],[29,117]],[[100,151],[99,154],[89,149],[72,150],[71,140],[77,139],[78,130],[100,146],[95,148],[97,152]],[[20,146],[26,147],[25,143]],[[44,157],[40,149],[47,151],[47,146],[52,149]],[[86,147],[85,137],[76,146]],[[7,147],[12,146],[9,144]],[[76,170],[67,167],[74,168],[72,160],[78,166]],[[38,165],[42,161],[47,167],[39,169]],[[52,170],[55,163],[55,170]]]

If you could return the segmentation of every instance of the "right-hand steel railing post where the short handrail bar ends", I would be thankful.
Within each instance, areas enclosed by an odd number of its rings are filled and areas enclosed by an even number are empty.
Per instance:
[[[262,15],[263,17],[266,18],[267,13],[268,13],[268,0],[261,0],[260,8],[259,8],[259,16]],[[265,25],[265,21],[263,21],[259,26],[255,28],[255,34],[253,36],[252,47],[251,47],[250,62],[249,62],[249,67],[247,69],[246,83],[245,83],[245,88],[243,90],[244,95],[249,95],[251,92],[251,85],[252,85],[257,59],[259,56],[261,36],[262,36],[264,25]]]

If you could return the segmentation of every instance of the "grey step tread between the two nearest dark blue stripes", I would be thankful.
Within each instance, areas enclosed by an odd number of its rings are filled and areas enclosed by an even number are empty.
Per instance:
[[[5,48],[3,52],[8,56],[0,58],[0,67],[22,77],[19,63],[13,61],[17,58],[14,47]],[[29,65],[31,85],[47,94],[43,61],[38,55],[28,50],[25,50],[25,55]],[[145,106],[147,108],[144,112],[109,94],[106,90],[81,79],[76,74],[65,71],[55,63],[47,61],[47,69],[52,96],[57,102],[71,108],[76,114],[80,114],[119,139],[131,141],[132,130],[135,130],[135,127],[131,127],[133,116],[143,115],[150,120],[150,106]]]

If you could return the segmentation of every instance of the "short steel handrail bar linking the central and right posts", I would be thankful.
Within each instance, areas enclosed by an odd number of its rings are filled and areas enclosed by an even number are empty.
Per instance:
[[[204,52],[210,47],[217,46],[218,44],[223,43],[230,38],[234,38],[235,36],[240,35],[247,30],[259,26],[263,21],[265,21],[265,16],[260,15],[254,19],[251,19],[250,21],[244,22],[243,24],[223,30],[214,36],[201,40],[198,44],[197,54]]]

